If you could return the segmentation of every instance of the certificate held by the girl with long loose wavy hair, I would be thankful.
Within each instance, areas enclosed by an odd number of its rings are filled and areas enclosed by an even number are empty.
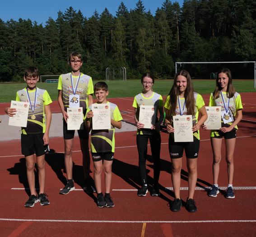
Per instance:
[[[174,141],[193,142],[192,115],[173,116]]]

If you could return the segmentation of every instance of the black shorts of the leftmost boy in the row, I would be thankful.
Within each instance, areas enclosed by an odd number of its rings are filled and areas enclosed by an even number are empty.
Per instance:
[[[48,145],[43,145],[43,133],[41,134],[21,134],[21,153],[25,156],[34,155],[37,157],[49,151]]]

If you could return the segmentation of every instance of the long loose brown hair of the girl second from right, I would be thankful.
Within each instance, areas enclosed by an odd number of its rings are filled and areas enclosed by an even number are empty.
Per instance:
[[[191,76],[189,75],[189,72],[187,72],[186,70],[182,70],[177,72],[176,75],[174,76],[172,89],[169,92],[170,110],[168,111],[168,117],[171,117],[171,115],[176,115],[175,110],[177,107],[177,97],[179,95],[179,90],[177,87],[177,77],[180,75],[186,77],[186,90],[184,93],[184,97],[186,98],[187,115],[195,115],[195,97]]]

